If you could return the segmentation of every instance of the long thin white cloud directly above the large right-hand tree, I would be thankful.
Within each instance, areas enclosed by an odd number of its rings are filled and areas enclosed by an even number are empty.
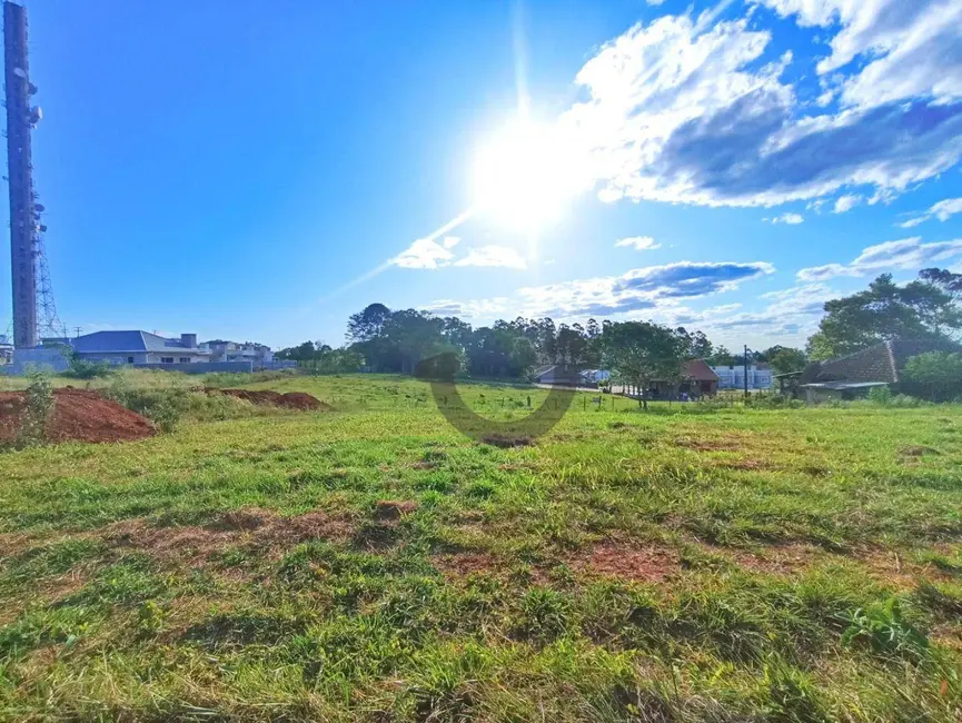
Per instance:
[[[866,247],[851,264],[826,264],[803,268],[797,273],[802,281],[820,281],[836,276],[864,276],[870,273],[919,270],[935,261],[962,257],[962,239],[922,244],[920,236],[885,241]]]

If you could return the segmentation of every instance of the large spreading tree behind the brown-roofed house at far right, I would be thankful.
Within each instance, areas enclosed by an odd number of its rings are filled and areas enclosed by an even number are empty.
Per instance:
[[[962,309],[939,284],[921,278],[899,286],[883,274],[866,290],[825,303],[809,356],[829,359],[896,338],[945,338],[960,328]]]

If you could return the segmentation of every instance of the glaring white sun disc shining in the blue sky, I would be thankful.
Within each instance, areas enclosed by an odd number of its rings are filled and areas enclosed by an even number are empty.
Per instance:
[[[537,234],[559,221],[584,190],[584,164],[556,126],[517,119],[483,145],[474,209],[508,230]]]

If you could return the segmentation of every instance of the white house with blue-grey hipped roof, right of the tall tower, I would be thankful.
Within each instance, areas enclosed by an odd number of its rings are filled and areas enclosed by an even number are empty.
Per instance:
[[[75,356],[108,364],[197,364],[210,351],[197,345],[196,334],[168,339],[149,331],[95,331],[69,339]]]

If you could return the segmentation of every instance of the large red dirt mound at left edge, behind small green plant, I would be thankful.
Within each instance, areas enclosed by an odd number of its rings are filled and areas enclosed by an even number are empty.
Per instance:
[[[0,440],[17,437],[27,405],[23,392],[0,393]],[[54,389],[47,422],[49,442],[127,442],[157,434],[150,422],[87,389]]]

